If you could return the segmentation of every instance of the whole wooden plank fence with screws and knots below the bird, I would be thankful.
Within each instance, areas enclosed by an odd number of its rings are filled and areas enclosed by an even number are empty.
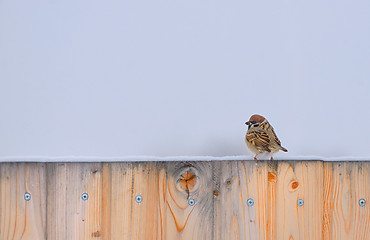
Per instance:
[[[370,162],[0,163],[0,239],[370,239]]]

